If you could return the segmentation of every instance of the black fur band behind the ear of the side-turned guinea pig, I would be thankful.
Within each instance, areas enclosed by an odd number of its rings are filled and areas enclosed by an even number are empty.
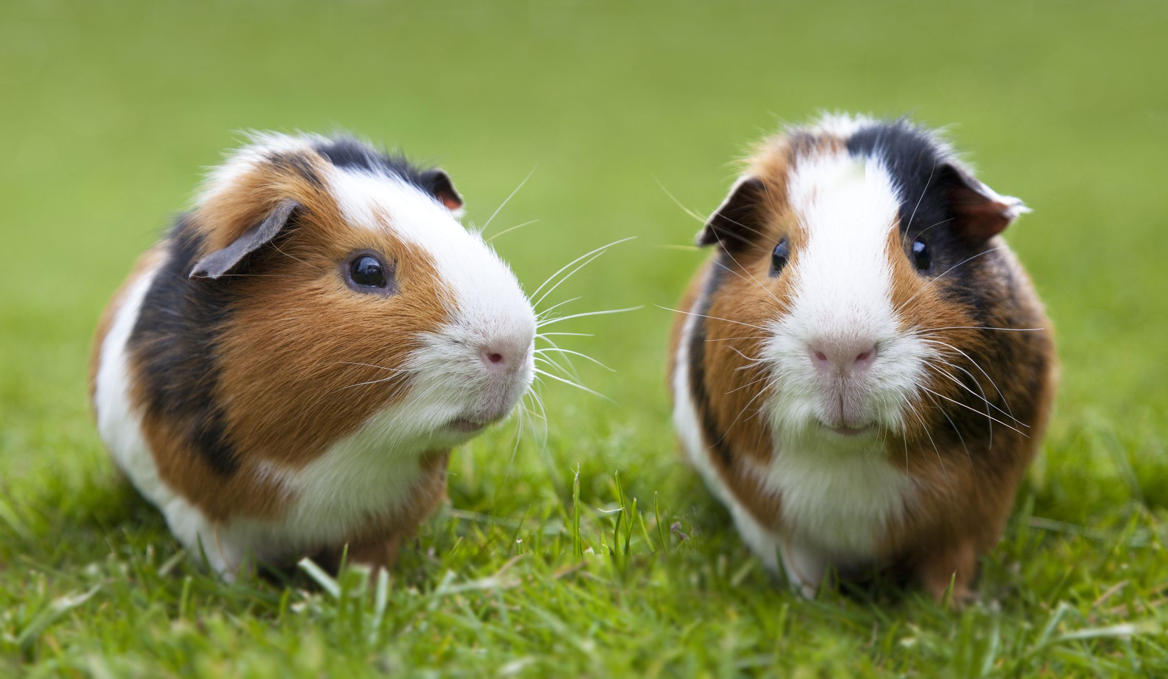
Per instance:
[[[146,388],[147,416],[179,422],[190,446],[213,470],[238,467],[214,389],[215,349],[230,314],[227,280],[190,280],[201,238],[182,216],[171,231],[167,261],[151,283],[127,344]]]

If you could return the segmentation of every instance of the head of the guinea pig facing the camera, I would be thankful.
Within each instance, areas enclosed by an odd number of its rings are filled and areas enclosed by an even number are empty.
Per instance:
[[[966,420],[992,340],[978,328],[1010,323],[996,235],[1026,210],[906,122],[788,130],[698,235],[719,248],[707,355],[738,370],[779,436],[849,446]]]

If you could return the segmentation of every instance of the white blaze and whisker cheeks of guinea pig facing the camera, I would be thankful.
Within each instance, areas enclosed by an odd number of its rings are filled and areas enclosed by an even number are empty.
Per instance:
[[[847,152],[799,161],[790,202],[806,234],[791,263],[793,304],[770,324],[763,355],[781,379],[771,403],[776,430],[792,439],[830,420],[822,379],[809,359],[815,341],[877,347],[871,368],[851,384],[864,423],[903,429],[905,399],[923,379],[927,345],[904,332],[892,305],[889,234],[901,198],[878,159]]]

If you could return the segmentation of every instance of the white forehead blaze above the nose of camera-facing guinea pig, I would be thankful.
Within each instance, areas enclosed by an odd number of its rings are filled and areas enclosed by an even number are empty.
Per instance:
[[[901,200],[883,164],[847,151],[802,158],[788,196],[806,234],[792,316],[816,334],[895,331],[887,245]]]

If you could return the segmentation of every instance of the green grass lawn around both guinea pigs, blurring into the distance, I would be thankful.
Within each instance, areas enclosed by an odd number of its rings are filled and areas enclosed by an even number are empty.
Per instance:
[[[1168,6],[7,2],[0,8],[0,674],[1168,674]],[[1035,208],[1008,234],[1059,338],[1041,460],[980,600],[773,582],[680,464],[669,314],[746,144],[820,109],[958,124]],[[121,485],[85,401],[97,314],[245,127],[437,159],[611,404],[456,451],[387,580],[222,584]],[[659,186],[659,182],[661,186]],[[561,297],[562,295],[562,297]],[[557,300],[558,300],[557,299]],[[565,324],[566,325],[566,324]],[[619,480],[618,480],[619,479]]]

